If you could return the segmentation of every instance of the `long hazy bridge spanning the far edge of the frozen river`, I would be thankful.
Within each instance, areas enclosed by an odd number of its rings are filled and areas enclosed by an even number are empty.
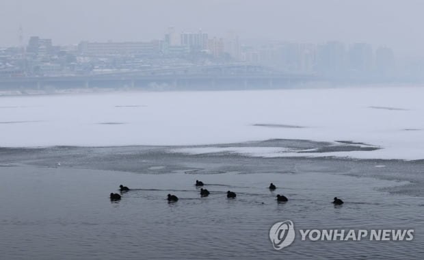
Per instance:
[[[43,88],[280,88],[320,81],[316,75],[284,73],[252,64],[175,66],[137,71],[58,77],[0,77],[0,89]]]

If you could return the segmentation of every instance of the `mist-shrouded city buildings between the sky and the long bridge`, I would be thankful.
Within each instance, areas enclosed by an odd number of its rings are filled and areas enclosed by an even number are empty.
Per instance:
[[[393,49],[359,42],[304,44],[269,42],[256,47],[242,44],[237,34],[226,38],[205,31],[178,31],[169,27],[162,40],[148,42],[88,42],[72,47],[50,38],[31,36],[25,47],[0,49],[3,77],[23,75],[81,75],[102,71],[144,70],[204,64],[261,64],[287,73],[310,73],[334,79],[395,79],[421,73],[422,61],[412,65],[395,58]],[[178,59],[178,60],[175,60]],[[415,61],[415,62],[416,62]],[[418,70],[417,70],[418,69]]]

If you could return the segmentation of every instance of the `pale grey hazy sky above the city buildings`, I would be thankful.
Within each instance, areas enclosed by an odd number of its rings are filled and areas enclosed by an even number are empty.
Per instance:
[[[202,28],[210,36],[294,42],[386,44],[424,55],[423,0],[0,0],[0,46],[18,44],[18,28],[53,44],[163,38]]]

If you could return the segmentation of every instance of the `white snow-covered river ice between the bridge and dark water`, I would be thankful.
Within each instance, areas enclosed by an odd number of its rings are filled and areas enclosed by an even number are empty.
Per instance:
[[[3,96],[0,146],[300,139],[353,141],[381,148],[330,156],[424,159],[423,95],[424,88],[363,87]],[[274,152],[267,151],[267,156],[297,156],[291,150]]]

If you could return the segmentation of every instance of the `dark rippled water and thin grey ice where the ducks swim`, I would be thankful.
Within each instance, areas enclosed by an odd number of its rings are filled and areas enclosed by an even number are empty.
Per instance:
[[[420,161],[184,155],[165,147],[0,151],[1,259],[423,259]],[[58,165],[60,164],[60,165]],[[211,195],[200,198],[196,179]],[[270,192],[270,182],[278,189]],[[132,188],[111,203],[110,192]],[[237,198],[226,198],[226,191]],[[180,198],[165,200],[168,193]],[[288,203],[276,203],[284,194]],[[345,200],[334,207],[332,198]],[[269,241],[296,229],[414,229],[410,242]]]

